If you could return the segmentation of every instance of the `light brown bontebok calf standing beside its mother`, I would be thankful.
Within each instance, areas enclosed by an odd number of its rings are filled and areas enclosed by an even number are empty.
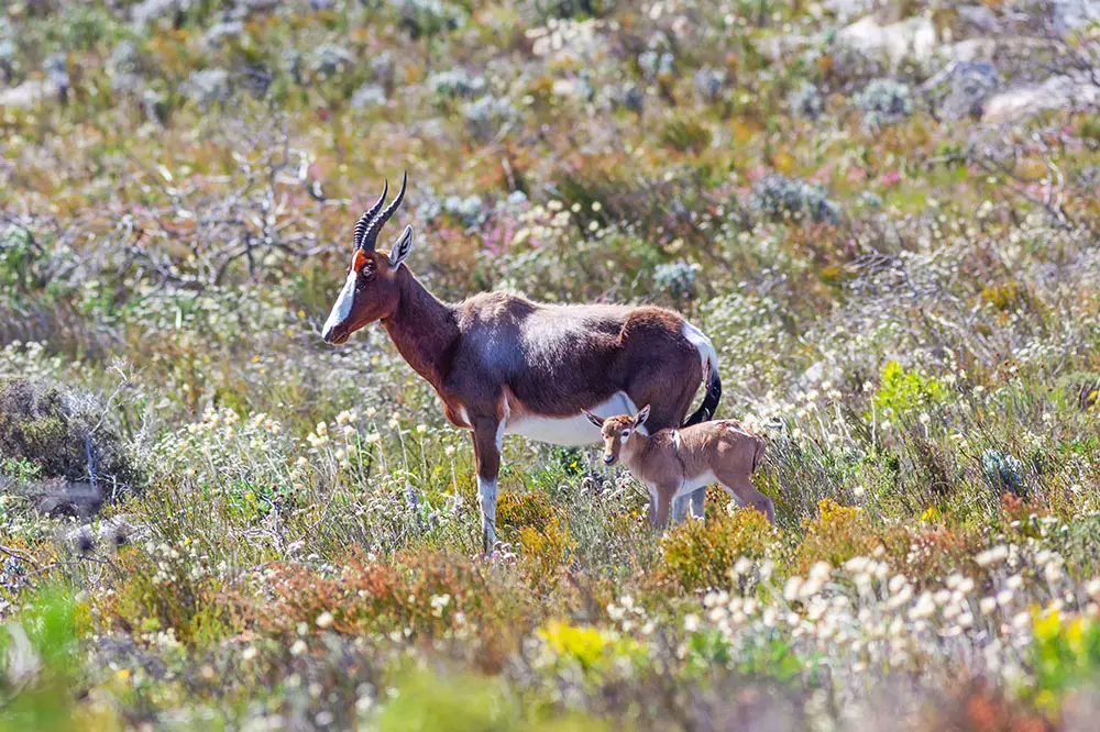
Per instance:
[[[763,439],[746,432],[736,420],[703,422],[679,430],[642,426],[649,407],[637,414],[604,419],[586,412],[604,437],[604,463],[620,459],[638,480],[646,484],[657,503],[657,525],[669,521],[672,501],[717,483],[741,506],[751,506],[776,522],[771,499],[752,485],[751,476],[763,457]]]

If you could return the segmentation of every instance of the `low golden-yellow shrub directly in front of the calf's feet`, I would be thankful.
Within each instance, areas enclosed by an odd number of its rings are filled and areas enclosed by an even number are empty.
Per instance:
[[[663,573],[690,591],[727,587],[727,573],[738,558],[766,556],[779,536],[779,530],[752,509],[684,521],[661,539]]]

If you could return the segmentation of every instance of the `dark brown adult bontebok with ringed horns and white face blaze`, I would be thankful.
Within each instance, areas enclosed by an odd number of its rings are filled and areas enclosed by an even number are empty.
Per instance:
[[[703,403],[688,423],[711,418],[722,393],[714,346],[674,312],[540,304],[504,292],[483,292],[457,304],[433,297],[403,264],[413,247],[411,226],[391,252],[375,248],[378,232],[405,197],[405,185],[383,209],[387,182],[355,224],[348,278],[322,336],[340,344],[382,321],[405,361],[439,393],[447,419],[473,432],[486,551],[496,541],[505,434],[593,444],[600,431],[582,410],[632,413],[647,403],[651,428],[678,426],[706,374]],[[702,513],[703,491],[691,508]]]

